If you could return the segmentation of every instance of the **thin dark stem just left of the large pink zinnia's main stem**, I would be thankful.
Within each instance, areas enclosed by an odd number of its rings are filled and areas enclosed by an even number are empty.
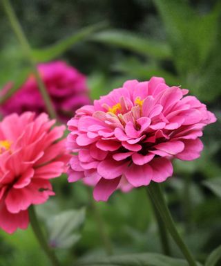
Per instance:
[[[160,233],[160,242],[162,245],[162,250],[164,252],[164,255],[171,256],[171,247],[169,244],[169,238],[168,238],[166,226],[165,226],[164,221],[162,220],[162,218],[160,216],[160,213],[159,213],[157,207],[155,206],[155,204],[153,202],[152,197],[149,196],[149,199],[151,201],[153,213],[154,213],[155,219],[157,221],[157,227],[158,227],[158,231]]]

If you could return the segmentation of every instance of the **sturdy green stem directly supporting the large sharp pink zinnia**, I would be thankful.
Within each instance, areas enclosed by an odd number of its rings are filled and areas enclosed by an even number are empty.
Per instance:
[[[184,240],[182,240],[180,234],[178,233],[175,227],[175,222],[173,221],[171,212],[169,211],[169,208],[166,204],[166,200],[164,199],[160,184],[151,182],[151,184],[147,186],[146,189],[148,195],[153,200],[153,204],[155,204],[157,210],[159,211],[159,214],[162,220],[164,221],[165,226],[171,233],[173,240],[176,242],[177,246],[180,248],[180,251],[188,261],[189,266],[197,266],[191,252],[189,251],[188,247],[186,247]]]

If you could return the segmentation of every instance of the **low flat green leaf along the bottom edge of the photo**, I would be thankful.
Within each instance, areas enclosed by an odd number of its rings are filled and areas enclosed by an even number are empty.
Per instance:
[[[76,266],[188,266],[185,260],[161,254],[128,254],[107,258],[84,258]]]

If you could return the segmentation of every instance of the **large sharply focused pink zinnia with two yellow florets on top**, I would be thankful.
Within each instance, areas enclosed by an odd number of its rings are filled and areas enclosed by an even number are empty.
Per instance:
[[[169,87],[163,78],[129,80],[122,88],[77,110],[68,122],[69,181],[95,179],[96,200],[126,182],[147,186],[173,174],[171,159],[200,157],[199,137],[215,116],[187,89]]]

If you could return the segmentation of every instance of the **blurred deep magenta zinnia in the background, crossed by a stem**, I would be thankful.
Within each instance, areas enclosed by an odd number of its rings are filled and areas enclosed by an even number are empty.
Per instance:
[[[57,61],[39,64],[38,69],[56,112],[63,121],[68,121],[79,107],[90,103],[86,77],[74,67],[70,67],[66,62]],[[12,82],[9,82],[3,88],[2,94],[11,87]],[[37,114],[46,112],[44,100],[33,75],[30,75],[19,91],[6,101],[0,110],[3,115],[13,112],[21,114],[26,111]]]

